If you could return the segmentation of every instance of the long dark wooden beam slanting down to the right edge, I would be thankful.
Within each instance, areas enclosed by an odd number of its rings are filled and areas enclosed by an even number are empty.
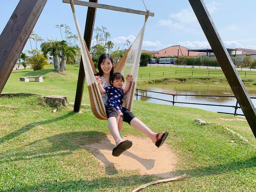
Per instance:
[[[256,138],[256,110],[203,0],[188,0]]]

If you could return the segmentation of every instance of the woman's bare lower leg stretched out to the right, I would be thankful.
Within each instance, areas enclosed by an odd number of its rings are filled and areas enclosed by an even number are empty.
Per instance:
[[[133,126],[137,131],[140,131],[142,133],[144,133],[145,135],[147,135],[148,137],[150,137],[150,139],[152,140],[153,143],[156,143],[156,134],[155,132],[151,131],[150,128],[148,128],[140,119],[134,117],[131,121],[131,126]],[[158,137],[159,139],[162,138],[163,133],[160,134]]]

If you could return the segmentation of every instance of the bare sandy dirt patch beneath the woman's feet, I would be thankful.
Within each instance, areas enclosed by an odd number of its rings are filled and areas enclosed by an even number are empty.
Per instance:
[[[115,170],[133,170],[141,175],[157,174],[164,178],[173,176],[177,158],[166,143],[157,148],[149,138],[126,136],[124,139],[131,140],[133,145],[119,157],[112,156],[112,149],[115,147],[112,136],[83,147],[87,148],[107,169],[112,166]]]

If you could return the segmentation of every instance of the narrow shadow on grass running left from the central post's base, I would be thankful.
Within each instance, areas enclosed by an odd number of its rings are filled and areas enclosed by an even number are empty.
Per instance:
[[[56,121],[61,121],[62,119],[65,119],[65,118],[67,118],[67,117],[69,117],[69,116],[71,116],[71,115],[74,115],[74,114],[76,114],[76,113],[73,112],[73,111],[70,111],[68,114],[63,115],[63,116],[60,116],[60,117],[57,117],[57,118],[55,118],[55,119],[50,119],[50,120],[45,120],[45,121],[39,121],[39,122],[30,123],[30,124],[28,124],[28,125],[25,125],[25,126],[23,126],[22,128],[20,128],[20,129],[14,131],[14,132],[12,132],[12,133],[10,133],[10,134],[8,134],[8,135],[5,135],[5,136],[1,137],[1,138],[0,138],[0,145],[1,145],[1,143],[3,143],[3,142],[6,142],[6,141],[8,141],[8,140],[10,140],[10,139],[13,139],[14,137],[17,137],[17,136],[19,136],[19,135],[21,135],[21,134],[23,134],[23,133],[29,131],[31,128],[34,128],[34,127],[36,127],[37,125],[43,125],[43,124],[48,124],[48,123],[52,123],[52,122],[56,122]]]

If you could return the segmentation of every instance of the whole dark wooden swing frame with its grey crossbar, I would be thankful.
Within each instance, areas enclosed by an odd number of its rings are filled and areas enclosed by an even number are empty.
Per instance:
[[[98,4],[98,0],[89,0],[89,2],[77,0],[62,0],[63,3],[73,1],[76,5],[88,6],[86,25],[84,30],[84,40],[90,49],[96,8],[110,9],[127,13],[147,15],[146,11],[126,9],[110,5]],[[223,41],[214,25],[214,22],[206,8],[203,0],[188,0],[205,36],[215,53],[215,56],[221,66],[221,69],[227,78],[227,81],[247,119],[247,122],[256,138],[256,110],[249,97],[241,78],[225,48]],[[3,32],[0,35],[0,93],[2,92],[6,81],[8,80],[20,53],[22,52],[29,35],[31,34],[47,0],[20,0],[13,14],[7,22]],[[151,13],[150,16],[154,16]],[[78,83],[74,111],[79,112],[84,88],[84,68],[82,59],[79,68]]]

